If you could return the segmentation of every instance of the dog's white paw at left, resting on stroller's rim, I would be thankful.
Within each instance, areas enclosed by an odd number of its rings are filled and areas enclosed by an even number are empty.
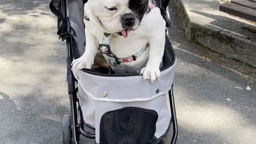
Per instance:
[[[88,68],[91,69],[93,65],[93,61],[90,60],[86,60],[83,57],[80,57],[78,59],[73,60],[73,62],[71,63],[71,70],[76,69],[83,69],[83,68]]]

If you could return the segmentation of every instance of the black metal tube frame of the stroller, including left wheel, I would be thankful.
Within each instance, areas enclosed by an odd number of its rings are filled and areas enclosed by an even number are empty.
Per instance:
[[[60,6],[61,6],[61,13],[65,15],[65,18],[59,18],[58,17],[58,29],[59,26],[62,24],[62,30],[61,32],[58,31],[58,35],[60,35],[59,39],[62,38],[62,41],[66,40],[66,46],[67,46],[67,83],[68,83],[68,94],[69,94],[69,100],[70,100],[70,115],[65,115],[63,118],[63,142],[70,141],[70,143],[78,144],[80,135],[83,135],[86,138],[95,139],[95,134],[86,132],[84,130],[84,126],[86,126],[87,129],[93,130],[93,127],[90,127],[89,125],[86,125],[83,121],[82,114],[79,113],[80,106],[79,106],[79,99],[77,95],[77,87],[75,85],[76,79],[74,77],[73,71],[71,70],[71,62],[73,61],[74,55],[76,53],[74,52],[73,47],[73,33],[70,27],[70,21],[69,21],[69,7],[68,2],[69,0],[60,0]],[[87,2],[86,0],[84,0]],[[167,18],[166,14],[166,8],[169,4],[170,0],[160,0],[162,2],[161,5],[163,5],[163,8],[161,9],[162,15],[164,19],[166,20],[166,26],[170,27],[170,23],[168,21],[169,18]],[[56,11],[53,8],[53,5],[50,4],[51,11],[56,14]],[[62,21],[62,23],[61,23]],[[64,21],[64,22],[63,22]],[[77,56],[76,56],[77,57]],[[178,137],[178,123],[177,123],[177,117],[175,112],[175,104],[174,104],[174,95],[173,95],[173,85],[171,89],[169,90],[169,100],[170,100],[170,109],[171,109],[171,123],[173,125],[173,136],[171,143],[174,144],[177,141]],[[70,117],[71,116],[71,117]],[[69,143],[66,143],[69,144]]]

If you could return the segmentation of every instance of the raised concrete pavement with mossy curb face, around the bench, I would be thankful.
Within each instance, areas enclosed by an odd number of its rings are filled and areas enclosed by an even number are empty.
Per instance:
[[[220,4],[230,0],[172,1],[190,41],[256,68],[255,22],[219,11]]]

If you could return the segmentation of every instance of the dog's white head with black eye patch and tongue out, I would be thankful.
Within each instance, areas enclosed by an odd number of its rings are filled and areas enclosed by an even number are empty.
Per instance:
[[[127,38],[139,28],[148,0],[90,0],[89,6],[103,27]]]

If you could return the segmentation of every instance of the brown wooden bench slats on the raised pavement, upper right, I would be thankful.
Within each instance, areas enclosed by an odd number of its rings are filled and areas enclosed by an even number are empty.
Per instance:
[[[256,0],[231,0],[221,4],[220,11],[256,22]]]

